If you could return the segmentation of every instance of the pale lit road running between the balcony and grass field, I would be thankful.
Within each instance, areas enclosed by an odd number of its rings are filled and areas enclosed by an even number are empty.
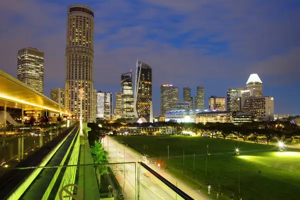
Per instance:
[[[108,145],[107,145],[108,144]],[[170,175],[164,170],[160,170],[159,167],[152,164],[143,157],[141,153],[132,150],[130,147],[118,143],[112,137],[105,137],[102,140],[103,148],[109,153],[110,162],[137,162],[138,160],[146,163],[150,168],[155,170],[161,176],[166,178],[168,181],[178,187],[191,196],[194,199],[210,199],[203,195],[199,191],[191,188],[181,180]],[[126,192],[126,199],[135,199],[135,167],[134,164],[123,164],[111,167],[115,170],[115,176],[119,181],[121,187]],[[146,199],[176,199],[175,192],[163,184],[158,178],[149,173],[145,168],[140,166],[139,175],[139,198],[142,200]],[[124,174],[125,173],[125,174]],[[181,197],[178,199],[181,199]]]

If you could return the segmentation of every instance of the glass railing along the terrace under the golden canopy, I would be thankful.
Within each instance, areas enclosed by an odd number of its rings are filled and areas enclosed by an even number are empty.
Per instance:
[[[0,128],[0,166],[15,166],[34,150],[45,145],[76,120],[26,124]]]

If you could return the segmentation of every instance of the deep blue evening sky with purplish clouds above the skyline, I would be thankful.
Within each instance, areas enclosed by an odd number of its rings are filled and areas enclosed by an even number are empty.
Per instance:
[[[299,0],[5,0],[0,69],[16,77],[17,50],[44,51],[44,94],[64,87],[67,6],[94,11],[93,87],[120,91],[120,74],[152,67],[153,115],[160,85],[204,86],[211,95],[243,87],[251,73],[274,97],[274,112],[300,114]]]

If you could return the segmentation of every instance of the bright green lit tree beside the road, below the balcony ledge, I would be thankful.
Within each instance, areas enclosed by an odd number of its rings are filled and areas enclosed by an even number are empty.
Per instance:
[[[94,142],[94,145],[90,146],[90,153],[94,164],[108,163],[108,153],[102,149],[102,145],[98,142]],[[94,171],[98,180],[98,186],[100,187],[101,175],[106,172],[107,166],[104,164],[94,165]]]

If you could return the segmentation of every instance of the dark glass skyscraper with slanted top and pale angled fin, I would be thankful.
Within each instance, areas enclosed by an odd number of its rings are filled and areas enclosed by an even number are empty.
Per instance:
[[[136,60],[134,85],[134,116],[150,119],[150,102],[152,101],[152,68]]]

